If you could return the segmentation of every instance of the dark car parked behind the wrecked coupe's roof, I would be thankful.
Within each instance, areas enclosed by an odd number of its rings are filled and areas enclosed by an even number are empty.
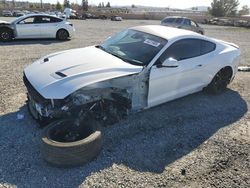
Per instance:
[[[169,16],[161,21],[161,25],[186,29],[202,35],[205,33],[204,29],[201,28],[195,21],[186,17]]]

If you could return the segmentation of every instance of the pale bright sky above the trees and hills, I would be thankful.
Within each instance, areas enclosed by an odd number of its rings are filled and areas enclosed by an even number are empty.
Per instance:
[[[22,1],[22,0],[17,0]],[[27,0],[25,0],[27,1]],[[40,2],[40,0],[28,0],[29,2]],[[43,0],[44,3],[56,3],[57,0]],[[63,0],[59,0],[63,3]],[[70,0],[70,2],[81,3],[81,0]],[[110,2],[111,6],[123,5],[143,5],[154,7],[170,7],[170,8],[190,8],[194,6],[210,6],[212,0],[88,0],[89,4],[98,5],[100,2]],[[250,7],[250,0],[239,0],[240,6],[248,5]]]

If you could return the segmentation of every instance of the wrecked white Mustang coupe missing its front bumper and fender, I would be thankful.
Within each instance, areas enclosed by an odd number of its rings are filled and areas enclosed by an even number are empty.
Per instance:
[[[41,122],[88,113],[119,119],[203,89],[222,93],[239,57],[237,45],[191,31],[133,27],[25,68],[28,107]]]

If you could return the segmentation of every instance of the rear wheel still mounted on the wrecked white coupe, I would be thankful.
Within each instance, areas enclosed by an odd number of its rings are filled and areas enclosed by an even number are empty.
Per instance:
[[[213,78],[211,83],[205,88],[209,94],[221,94],[227,89],[227,85],[232,78],[232,70],[229,67],[221,69]]]

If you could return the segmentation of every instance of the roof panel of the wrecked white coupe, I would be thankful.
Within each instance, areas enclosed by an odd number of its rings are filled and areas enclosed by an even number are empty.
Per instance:
[[[167,40],[172,40],[177,37],[185,37],[185,36],[188,36],[188,37],[196,36],[196,37],[204,38],[200,34],[195,33],[193,31],[167,27],[167,26],[161,26],[161,25],[136,26],[130,29],[141,31],[144,33],[149,33],[149,34],[159,36]]]

